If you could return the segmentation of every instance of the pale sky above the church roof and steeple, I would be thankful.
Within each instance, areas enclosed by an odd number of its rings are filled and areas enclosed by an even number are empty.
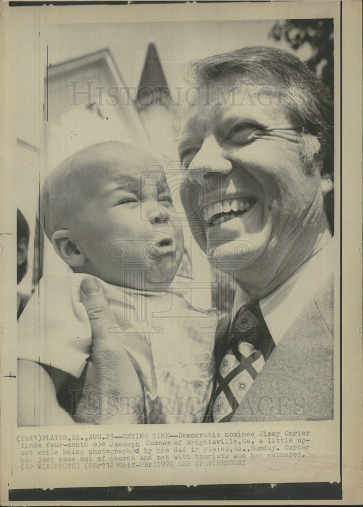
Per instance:
[[[143,22],[53,25],[49,61],[109,48],[127,86],[138,86],[149,43],[154,43],[171,89],[183,84],[188,61],[243,46],[270,45],[289,49],[268,38],[273,21]]]

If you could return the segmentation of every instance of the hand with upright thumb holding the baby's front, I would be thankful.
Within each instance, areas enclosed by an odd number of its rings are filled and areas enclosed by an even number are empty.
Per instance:
[[[91,324],[92,351],[74,419],[89,424],[140,423],[140,380],[96,278],[83,279],[81,299]]]

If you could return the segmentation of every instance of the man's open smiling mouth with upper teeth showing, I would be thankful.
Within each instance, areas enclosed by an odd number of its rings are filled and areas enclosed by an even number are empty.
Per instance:
[[[256,197],[245,197],[214,202],[204,208],[203,218],[210,227],[214,227],[247,213],[256,201]]]

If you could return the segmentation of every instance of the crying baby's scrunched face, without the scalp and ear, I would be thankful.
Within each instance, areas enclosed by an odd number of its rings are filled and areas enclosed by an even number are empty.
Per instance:
[[[108,153],[84,177],[80,201],[71,232],[86,258],[82,271],[139,289],[172,282],[183,231],[157,161],[145,153]]]

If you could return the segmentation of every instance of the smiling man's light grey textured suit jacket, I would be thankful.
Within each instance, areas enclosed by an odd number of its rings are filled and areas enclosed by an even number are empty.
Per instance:
[[[333,419],[333,289],[331,276],[272,351],[231,422]],[[217,365],[229,325],[217,328]]]

